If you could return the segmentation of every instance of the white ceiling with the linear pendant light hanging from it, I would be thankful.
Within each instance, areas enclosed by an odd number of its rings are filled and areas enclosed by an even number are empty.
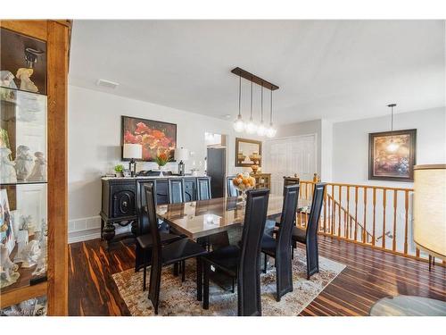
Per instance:
[[[396,113],[440,107],[445,22],[74,21],[71,85],[233,120],[236,66],[280,87],[278,124],[373,117],[391,102]],[[244,81],[244,118],[249,94]],[[260,87],[253,104],[259,119]]]

